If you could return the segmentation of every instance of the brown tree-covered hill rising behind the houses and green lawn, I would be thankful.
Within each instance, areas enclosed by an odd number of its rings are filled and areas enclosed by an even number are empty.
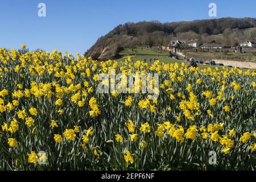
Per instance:
[[[246,40],[256,42],[256,18],[220,18],[191,22],[138,22],[120,24],[85,52],[102,59],[118,56],[123,48],[167,46],[171,40],[200,39],[203,43],[234,46]]]

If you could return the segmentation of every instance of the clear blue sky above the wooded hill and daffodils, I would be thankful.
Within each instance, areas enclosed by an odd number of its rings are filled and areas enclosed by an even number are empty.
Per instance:
[[[38,16],[40,2],[46,3],[46,17]],[[217,4],[216,18],[256,17],[255,0],[1,0],[0,47],[84,53],[118,24],[210,19],[210,2]]]

